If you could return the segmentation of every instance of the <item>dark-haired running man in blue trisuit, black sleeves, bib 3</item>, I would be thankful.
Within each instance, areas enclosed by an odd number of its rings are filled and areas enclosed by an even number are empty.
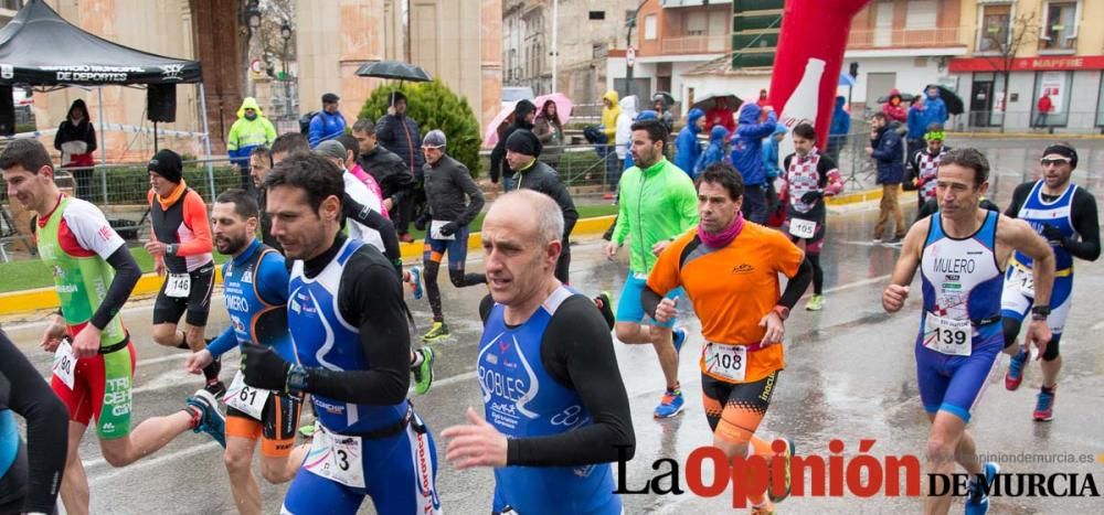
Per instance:
[[[284,513],[439,513],[433,438],[406,401],[410,312],[380,251],[341,234],[341,174],[295,154],[265,180],[273,234],[293,260],[287,322],[293,364],[246,345],[245,384],[310,394],[319,429]]]

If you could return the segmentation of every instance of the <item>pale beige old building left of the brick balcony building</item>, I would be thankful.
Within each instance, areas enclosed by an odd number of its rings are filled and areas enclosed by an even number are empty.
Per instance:
[[[537,95],[560,92],[576,104],[596,103],[605,93],[606,56],[625,47],[626,22],[639,0],[559,0],[559,23],[553,23],[553,3],[502,1],[503,85],[528,86]]]

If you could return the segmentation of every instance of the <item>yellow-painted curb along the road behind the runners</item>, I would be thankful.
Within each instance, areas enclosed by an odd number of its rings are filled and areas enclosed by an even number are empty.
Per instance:
[[[583,218],[575,224],[571,235],[573,237],[599,236],[613,224],[614,216],[596,216]],[[476,250],[482,247],[482,237],[479,233],[468,236],[468,249]],[[400,251],[403,260],[420,259],[422,257],[422,244],[401,244]],[[131,297],[157,293],[161,290],[163,278],[156,273],[146,273],[138,283],[135,285]],[[215,267],[215,283],[222,283],[222,267]],[[9,314],[20,314],[39,310],[55,309],[59,305],[57,293],[53,288],[35,288],[32,290],[9,291],[0,293],[0,316]]]

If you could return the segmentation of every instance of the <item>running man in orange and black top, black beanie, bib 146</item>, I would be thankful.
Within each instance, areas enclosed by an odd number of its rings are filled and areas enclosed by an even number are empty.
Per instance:
[[[151,240],[146,250],[155,259],[158,276],[169,276],[153,301],[153,341],[199,352],[206,347],[204,331],[214,289],[211,256],[211,222],[206,203],[183,178],[183,162],[172,150],[161,150],[149,160],[149,219]],[[184,315],[184,330],[177,324]],[[203,368],[204,388],[215,397],[226,393],[219,379],[222,363]]]

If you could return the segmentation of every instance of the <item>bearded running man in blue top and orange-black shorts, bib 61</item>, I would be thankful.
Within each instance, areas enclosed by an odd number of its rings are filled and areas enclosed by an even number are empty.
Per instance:
[[[215,247],[233,257],[222,268],[231,325],[208,348],[188,356],[184,367],[193,374],[231,348],[245,345],[272,347],[284,360],[298,363],[287,332],[287,266],[284,256],[256,238],[258,219],[257,202],[245,190],[227,190],[211,210]],[[269,483],[285,483],[295,476],[307,453],[307,446],[295,447],[302,398],[245,386],[238,372],[223,400],[223,460],[231,491],[238,513],[261,514],[253,450],[261,439],[261,472]]]

